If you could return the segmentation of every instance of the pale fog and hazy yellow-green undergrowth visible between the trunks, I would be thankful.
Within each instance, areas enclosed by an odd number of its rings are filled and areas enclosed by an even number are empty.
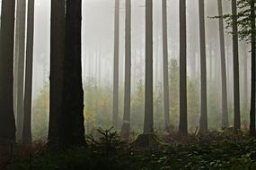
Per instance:
[[[85,126],[90,131],[94,126],[110,126],[113,85],[114,55],[114,0],[83,0],[82,20],[82,63],[85,103]],[[231,13],[229,1],[223,1],[224,13]],[[156,129],[163,129],[163,44],[162,44],[162,3],[154,0],[154,111]],[[206,49],[207,49],[207,98],[209,128],[217,129],[221,122],[221,77],[218,21],[210,17],[217,16],[216,1],[206,1]],[[125,68],[125,2],[120,1],[119,20],[119,119],[123,113],[124,68]],[[179,67],[179,1],[168,1],[168,51],[169,70]],[[144,107],[143,91],[138,97],[138,88],[145,80],[145,0],[132,1],[131,6],[131,107],[134,131],[140,131]],[[34,64],[33,64],[33,133],[38,138],[46,136],[49,116],[49,50],[50,50],[50,0],[35,0],[34,23]],[[232,36],[225,30],[225,54],[227,71],[228,106],[230,119],[233,119],[233,49]],[[199,126],[199,6],[187,1],[187,38],[188,38],[188,83],[190,130]],[[247,126],[249,120],[245,113],[249,110],[250,69],[247,60],[250,47],[241,41],[240,53],[240,89],[242,122]],[[176,60],[173,60],[176,59]],[[173,63],[174,62],[174,63]],[[171,68],[174,64],[174,67]],[[171,66],[172,65],[172,66]],[[178,68],[177,67],[177,68]],[[176,68],[176,69],[177,69]],[[177,70],[179,72],[179,69]],[[170,77],[171,76],[171,77]],[[247,77],[244,77],[247,76]],[[172,84],[173,76],[169,75]],[[175,76],[174,76],[175,77]],[[179,106],[175,96],[178,89],[172,90],[171,121],[177,128]],[[141,96],[142,95],[142,96]],[[86,101],[88,101],[86,103]],[[197,102],[194,102],[197,101]],[[137,103],[136,103],[137,102]],[[175,105],[175,106],[174,106]],[[137,109],[140,109],[139,111]],[[139,118],[137,114],[141,114]],[[158,116],[159,115],[159,116]],[[230,121],[232,122],[232,121]],[[90,124],[92,125],[90,127]],[[41,134],[42,133],[42,134]]]

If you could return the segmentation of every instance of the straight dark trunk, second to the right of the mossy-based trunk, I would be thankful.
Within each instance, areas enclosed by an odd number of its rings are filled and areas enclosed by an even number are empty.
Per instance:
[[[187,113],[187,33],[186,0],[180,0],[180,125],[179,132],[188,134]]]

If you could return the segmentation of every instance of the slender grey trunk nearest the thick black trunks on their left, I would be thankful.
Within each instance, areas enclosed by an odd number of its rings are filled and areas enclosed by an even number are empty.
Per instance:
[[[33,77],[34,0],[28,0],[27,51],[24,92],[24,123],[22,143],[31,144],[31,98]]]

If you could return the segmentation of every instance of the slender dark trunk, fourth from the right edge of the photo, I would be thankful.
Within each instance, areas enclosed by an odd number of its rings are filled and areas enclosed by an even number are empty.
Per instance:
[[[201,117],[200,132],[207,132],[207,58],[205,29],[205,0],[199,0],[199,37],[201,56]]]

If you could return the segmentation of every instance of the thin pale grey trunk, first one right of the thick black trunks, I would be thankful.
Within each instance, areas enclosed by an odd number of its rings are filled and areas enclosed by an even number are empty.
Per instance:
[[[119,121],[119,0],[115,0],[114,72],[113,72],[113,126]]]

